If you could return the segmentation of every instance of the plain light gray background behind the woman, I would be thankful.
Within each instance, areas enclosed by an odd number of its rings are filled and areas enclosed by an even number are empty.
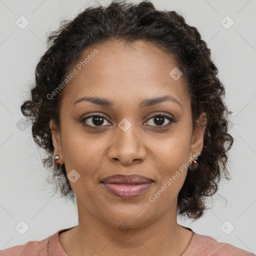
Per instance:
[[[178,222],[256,253],[256,0],[152,2],[158,9],[180,12],[189,25],[197,27],[211,48],[226,89],[225,102],[233,111],[229,132],[234,144],[228,164],[232,179],[220,183],[212,208],[202,218]],[[96,2],[0,0],[0,249],[41,240],[77,224],[76,205],[52,197],[43,187],[42,152],[32,141],[30,128],[22,126],[20,104],[28,82],[34,79],[38,58],[46,50],[46,33],[56,29],[61,19],[75,17],[86,4]],[[21,15],[29,21],[24,29],[15,23]],[[227,15],[234,21],[228,29]],[[29,226],[24,234],[15,228],[20,221]]]

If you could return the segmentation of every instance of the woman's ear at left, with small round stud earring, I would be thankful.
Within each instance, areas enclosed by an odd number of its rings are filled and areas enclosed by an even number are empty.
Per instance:
[[[56,123],[50,119],[50,132],[51,132],[51,138],[52,138],[52,144],[54,147],[53,155],[58,155],[59,159],[54,160],[55,163],[62,164],[64,162],[63,154],[62,154],[62,147],[61,147],[61,139],[60,139],[60,131],[57,127]]]

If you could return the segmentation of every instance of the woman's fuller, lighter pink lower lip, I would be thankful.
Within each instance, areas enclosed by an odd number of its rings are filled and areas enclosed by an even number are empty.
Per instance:
[[[143,184],[117,184],[103,183],[102,184],[116,196],[122,199],[130,199],[143,193],[152,183]]]

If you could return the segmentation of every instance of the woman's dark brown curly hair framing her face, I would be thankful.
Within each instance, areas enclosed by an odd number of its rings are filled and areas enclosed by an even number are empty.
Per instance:
[[[49,127],[50,119],[59,127],[64,88],[50,99],[47,95],[65,79],[82,50],[110,39],[124,42],[142,39],[171,53],[182,70],[191,98],[193,130],[198,126],[201,113],[206,113],[207,124],[198,164],[194,169],[188,168],[177,197],[178,215],[198,219],[207,209],[205,200],[217,191],[220,178],[230,179],[226,163],[233,138],[227,132],[229,112],[222,100],[225,91],[217,78],[218,69],[211,60],[211,51],[198,30],[186,24],[181,14],[157,10],[149,0],[136,4],[114,0],[108,6],[89,6],[72,20],[62,20],[58,29],[47,36],[47,50],[36,65],[29,98],[21,105],[22,114],[32,124],[35,143],[46,154],[42,158],[49,172],[46,182],[53,185],[54,194],[60,192],[63,198],[74,202],[75,194],[64,163],[55,166],[53,162]]]

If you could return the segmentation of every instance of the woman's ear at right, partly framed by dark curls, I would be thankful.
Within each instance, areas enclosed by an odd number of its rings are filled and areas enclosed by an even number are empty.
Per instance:
[[[207,116],[202,112],[197,119],[197,126],[194,127],[194,132],[191,138],[191,155],[195,153],[200,155],[203,147],[203,134],[207,124]],[[192,157],[192,156],[191,156]]]

